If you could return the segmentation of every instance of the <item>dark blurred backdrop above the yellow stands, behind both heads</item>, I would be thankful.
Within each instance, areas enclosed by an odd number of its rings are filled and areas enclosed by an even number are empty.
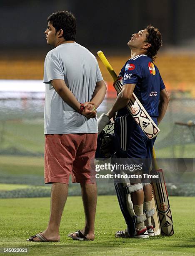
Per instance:
[[[163,34],[164,50],[193,46],[195,38],[195,0],[1,0],[1,51],[48,51],[46,19],[58,10],[75,14],[76,41],[90,50],[126,51],[132,33],[148,24]]]

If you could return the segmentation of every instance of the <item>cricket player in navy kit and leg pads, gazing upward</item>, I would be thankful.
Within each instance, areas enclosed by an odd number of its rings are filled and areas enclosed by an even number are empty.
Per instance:
[[[157,28],[147,26],[133,34],[128,46],[131,50],[131,58],[119,74],[123,77],[122,91],[117,95],[112,108],[107,113],[110,119],[115,119],[116,158],[152,159],[155,138],[149,139],[145,136],[125,107],[134,92],[155,123],[159,124],[165,115],[169,95],[159,70],[153,63],[162,46],[161,33]],[[120,208],[128,226],[126,230],[117,231],[115,236],[122,238],[154,236],[151,222],[154,214],[151,184],[135,182],[133,185],[134,188],[132,186],[132,190],[127,193],[124,192],[122,184],[115,183]],[[134,216],[129,214],[126,193],[131,195]],[[130,219],[131,221],[133,219],[135,224],[133,231]]]

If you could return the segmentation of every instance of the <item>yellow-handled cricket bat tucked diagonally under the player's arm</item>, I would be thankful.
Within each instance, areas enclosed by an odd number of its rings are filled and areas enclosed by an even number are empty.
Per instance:
[[[120,93],[122,90],[122,77],[117,77],[117,74],[111,67],[110,63],[107,61],[102,51],[98,51],[97,55],[100,57],[108,72],[111,74],[114,80],[113,86],[115,87],[115,90],[117,91],[117,93]],[[130,114],[133,116],[136,123],[138,123],[142,131],[149,139],[152,139],[155,136],[157,136],[157,134],[160,132],[160,129],[155,124],[150,115],[148,115],[147,111],[145,110],[145,108],[143,107],[143,105],[141,104],[141,102],[138,100],[134,93],[128,102],[127,108]]]

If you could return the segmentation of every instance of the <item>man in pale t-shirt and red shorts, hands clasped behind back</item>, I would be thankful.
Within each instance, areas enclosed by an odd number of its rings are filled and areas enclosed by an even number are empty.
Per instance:
[[[75,42],[76,20],[61,11],[47,18],[48,52],[45,83],[45,183],[52,183],[47,228],[27,241],[60,241],[60,220],[67,198],[69,176],[81,185],[85,227],[68,236],[94,240],[97,186],[92,160],[97,145],[96,108],[106,85],[97,60]]]

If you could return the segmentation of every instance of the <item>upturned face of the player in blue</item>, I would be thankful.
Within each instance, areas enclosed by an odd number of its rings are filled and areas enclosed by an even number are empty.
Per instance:
[[[130,41],[128,42],[128,46],[131,48],[142,49],[145,41],[147,41],[148,31],[146,29],[140,30],[138,33],[132,35]]]

